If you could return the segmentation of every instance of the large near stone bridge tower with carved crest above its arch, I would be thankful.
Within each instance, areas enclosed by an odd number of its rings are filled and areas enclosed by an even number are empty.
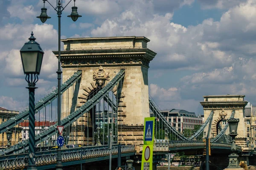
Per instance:
[[[122,121],[122,143],[143,144],[144,118],[150,116],[148,68],[149,62],[156,55],[147,48],[147,42],[150,40],[146,37],[131,36],[68,38],[61,41],[64,42],[64,51],[61,51],[63,79],[74,71],[82,71],[77,94],[75,90],[65,92],[69,95],[63,95],[63,108],[72,107],[73,95],[77,96],[79,108],[87,102],[90,92],[100,83],[106,85],[120,69],[125,69],[122,85],[119,83],[118,87],[114,87],[115,95],[116,91],[122,91],[121,96],[118,96],[118,120],[120,118]],[[54,51],[54,54],[57,56],[58,52]],[[99,77],[105,77],[105,82],[98,81],[98,74]],[[70,109],[63,114],[67,116],[69,113]],[[92,113],[86,119],[91,119],[91,116]],[[86,121],[80,120],[78,124],[87,126]]]

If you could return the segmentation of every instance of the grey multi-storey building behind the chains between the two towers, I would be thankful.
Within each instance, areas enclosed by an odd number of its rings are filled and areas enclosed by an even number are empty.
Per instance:
[[[203,119],[195,115],[194,112],[188,112],[178,109],[161,110],[166,120],[179,132],[183,129],[194,129],[195,125],[202,125]]]

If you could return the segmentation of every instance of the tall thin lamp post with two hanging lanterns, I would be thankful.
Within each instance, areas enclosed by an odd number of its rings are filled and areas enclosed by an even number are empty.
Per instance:
[[[49,3],[49,0],[43,0],[44,4],[45,1],[47,1]],[[70,0],[67,5],[71,2],[72,0]],[[79,17],[81,17],[81,15],[79,15],[77,13],[77,7],[75,6],[75,2],[74,1],[74,6],[72,7],[72,13],[68,16],[71,17],[73,21],[76,21]],[[57,0],[56,0],[57,2]],[[49,3],[51,6],[52,4]],[[62,6],[62,0],[58,0],[58,4],[56,7],[53,7],[54,10],[57,12],[58,15],[58,71],[56,72],[58,74],[58,126],[61,126],[61,14],[62,11],[66,8],[66,6]],[[37,18],[40,18],[40,20],[42,21],[42,23],[44,23],[48,18],[48,15],[46,13],[47,8],[41,8],[41,14],[40,16],[38,16]],[[58,133],[58,136],[60,136],[60,134]],[[56,164],[56,170],[62,170],[62,163],[61,163],[61,147],[58,147],[58,151],[57,151],[57,164]]]

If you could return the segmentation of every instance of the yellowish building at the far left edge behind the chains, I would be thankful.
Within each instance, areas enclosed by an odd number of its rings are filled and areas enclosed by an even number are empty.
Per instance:
[[[6,122],[7,120],[15,117],[19,114],[19,111],[9,111],[5,108],[0,107],[0,124]],[[21,128],[16,125],[12,127],[9,131],[12,132],[12,138],[10,140],[11,145],[17,144],[21,141]],[[0,147],[6,147],[8,140],[6,138],[6,132],[0,134]]]

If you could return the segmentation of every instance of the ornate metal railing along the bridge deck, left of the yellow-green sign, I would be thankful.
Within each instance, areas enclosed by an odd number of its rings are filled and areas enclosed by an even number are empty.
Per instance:
[[[118,146],[113,145],[112,154],[117,154]],[[62,161],[73,161],[77,159],[89,159],[109,155],[107,145],[97,147],[79,147],[73,149],[64,149],[61,152]],[[135,145],[122,145],[121,153],[135,152]],[[28,165],[28,153],[0,156],[0,168],[2,169],[21,169]],[[54,164],[57,162],[57,150],[37,152],[35,163],[37,166],[45,164]]]

